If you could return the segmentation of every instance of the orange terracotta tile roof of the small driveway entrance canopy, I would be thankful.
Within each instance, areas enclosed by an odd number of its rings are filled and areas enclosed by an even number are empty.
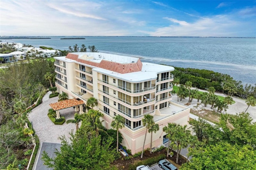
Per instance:
[[[49,104],[53,110],[60,110],[84,104],[83,100],[69,99]]]

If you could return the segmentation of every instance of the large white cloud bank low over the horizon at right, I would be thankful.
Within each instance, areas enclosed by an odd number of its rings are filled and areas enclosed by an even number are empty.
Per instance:
[[[228,16],[218,15],[208,18],[198,19],[193,23],[179,21],[177,19],[165,17],[178,25],[170,25],[156,29],[155,31],[140,31],[148,33],[150,36],[237,36],[239,23],[232,21]]]

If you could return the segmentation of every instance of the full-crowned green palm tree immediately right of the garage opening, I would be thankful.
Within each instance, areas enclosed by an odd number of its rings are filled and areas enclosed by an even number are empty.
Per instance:
[[[176,141],[177,158],[176,163],[180,156],[182,148],[187,147],[187,138],[190,135],[190,130],[187,129],[187,125],[177,127],[177,131],[172,136],[172,141]]]

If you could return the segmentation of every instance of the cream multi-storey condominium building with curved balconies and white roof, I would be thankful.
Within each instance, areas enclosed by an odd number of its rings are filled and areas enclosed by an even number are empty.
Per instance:
[[[70,99],[79,98],[85,104],[92,96],[98,99],[94,109],[104,114],[103,125],[107,129],[111,129],[114,116],[123,116],[122,145],[132,154],[143,147],[144,115],[153,115],[160,127],[153,133],[152,148],[168,140],[162,131],[168,122],[188,124],[190,109],[172,100],[171,66],[107,53],[69,53],[54,58],[58,92],[67,92]],[[145,148],[150,146],[150,139],[148,134]]]

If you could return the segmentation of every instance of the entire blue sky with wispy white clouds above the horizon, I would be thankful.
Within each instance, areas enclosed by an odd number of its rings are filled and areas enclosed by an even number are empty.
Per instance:
[[[256,1],[0,2],[1,36],[256,36]]]

